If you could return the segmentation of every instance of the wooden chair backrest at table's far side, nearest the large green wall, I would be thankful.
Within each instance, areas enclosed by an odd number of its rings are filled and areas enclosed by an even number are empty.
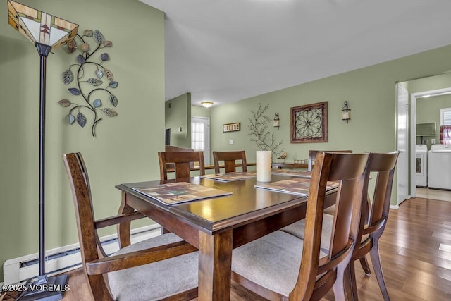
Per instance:
[[[199,162],[199,175],[205,174],[204,152],[158,152],[160,180],[168,180],[168,163],[174,164],[175,180],[191,177],[190,164]]]

